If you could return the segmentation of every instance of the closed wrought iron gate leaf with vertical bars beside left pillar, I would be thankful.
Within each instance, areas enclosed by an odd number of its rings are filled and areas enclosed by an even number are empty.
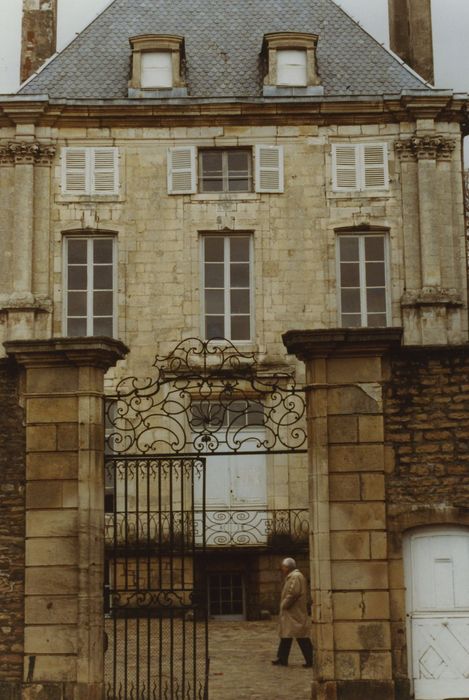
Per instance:
[[[204,460],[122,455],[105,470],[106,698],[206,700]]]

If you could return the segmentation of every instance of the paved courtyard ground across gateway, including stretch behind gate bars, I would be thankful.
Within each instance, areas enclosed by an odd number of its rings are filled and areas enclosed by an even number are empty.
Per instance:
[[[106,620],[106,700],[202,698],[203,627],[197,625],[196,642],[192,629],[186,623],[183,656],[180,626],[173,634],[166,621],[154,619],[148,626],[145,620]],[[199,649],[195,667],[194,642]],[[298,645],[292,646],[288,667],[272,666],[277,645],[275,620],[211,620],[209,700],[309,700],[312,672],[302,667]]]

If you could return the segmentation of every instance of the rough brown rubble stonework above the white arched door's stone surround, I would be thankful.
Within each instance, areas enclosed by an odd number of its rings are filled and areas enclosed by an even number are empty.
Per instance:
[[[392,358],[386,440],[391,504],[469,507],[469,348],[407,349]]]

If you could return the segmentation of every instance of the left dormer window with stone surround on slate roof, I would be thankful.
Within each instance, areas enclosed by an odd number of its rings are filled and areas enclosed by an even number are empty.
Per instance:
[[[132,47],[130,97],[152,96],[160,90],[185,92],[182,75],[184,37],[144,34],[129,39]]]

